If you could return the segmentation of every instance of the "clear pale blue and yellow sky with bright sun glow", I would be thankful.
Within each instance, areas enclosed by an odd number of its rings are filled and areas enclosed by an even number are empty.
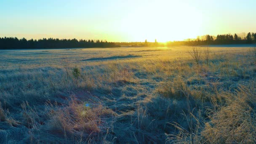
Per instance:
[[[0,37],[166,42],[256,32],[256,0],[0,0]]]

